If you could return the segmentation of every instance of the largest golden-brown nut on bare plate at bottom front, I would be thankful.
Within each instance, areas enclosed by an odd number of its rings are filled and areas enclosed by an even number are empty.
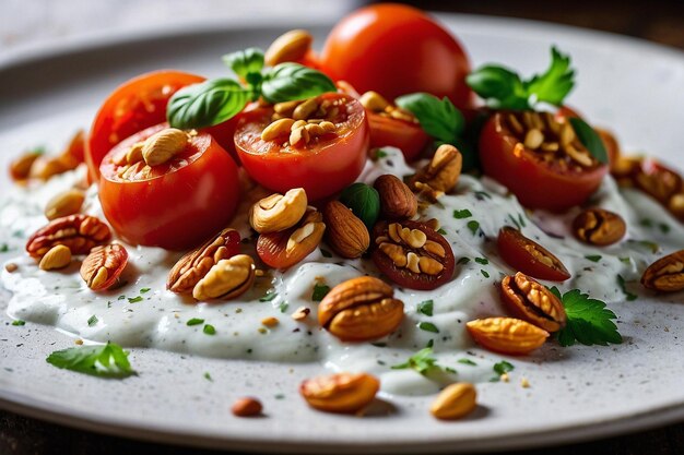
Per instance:
[[[337,373],[306,380],[299,393],[315,409],[354,414],[366,407],[380,390],[380,381],[367,373]]]

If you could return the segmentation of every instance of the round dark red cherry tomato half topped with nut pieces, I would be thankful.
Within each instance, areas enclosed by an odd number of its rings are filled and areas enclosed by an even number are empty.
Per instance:
[[[399,229],[409,228],[409,229],[421,230],[427,237],[427,242],[437,243],[437,247],[433,246],[434,248],[432,248],[432,250],[428,250],[428,248],[415,249],[405,244],[404,242],[397,243],[396,241],[392,240],[392,238],[396,236],[393,236],[389,231],[390,229],[393,229],[392,225],[399,225],[398,226]],[[431,289],[438,288],[439,286],[444,285],[445,283],[451,279],[451,276],[453,275],[453,268],[456,267],[456,261],[453,259],[453,252],[451,251],[451,246],[449,244],[447,239],[444,238],[444,236],[441,236],[439,232],[432,229],[429,226],[423,223],[410,221],[410,220],[403,220],[403,221],[397,221],[397,223],[379,221],[373,228],[373,234],[374,234],[374,238],[376,239],[376,241],[374,241],[375,248],[373,250],[370,258],[373,259],[373,262],[375,263],[375,265],[380,270],[380,272],[387,275],[389,279],[397,283],[399,286],[406,287],[410,289],[431,290]],[[382,237],[389,240],[378,242],[377,239],[382,238]],[[405,266],[398,266],[394,263],[394,260],[392,260],[384,251],[385,248],[382,247],[382,244],[385,244],[386,242],[389,243],[390,246],[399,244],[405,252],[406,258],[408,258],[408,254],[413,252],[418,258],[426,256],[426,258],[429,258],[431,260],[435,260],[441,264],[441,270],[436,274],[428,274],[428,273],[423,273],[423,272],[422,273],[412,272],[409,268],[410,264],[406,264]],[[426,242],[426,246],[428,246],[427,242]],[[444,250],[444,254],[435,253],[435,249],[438,250],[439,248]]]

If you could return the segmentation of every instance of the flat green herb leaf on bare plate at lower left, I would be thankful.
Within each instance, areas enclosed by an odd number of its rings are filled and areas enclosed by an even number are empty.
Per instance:
[[[57,350],[46,360],[57,368],[96,376],[121,379],[135,374],[128,361],[128,352],[114,343]]]

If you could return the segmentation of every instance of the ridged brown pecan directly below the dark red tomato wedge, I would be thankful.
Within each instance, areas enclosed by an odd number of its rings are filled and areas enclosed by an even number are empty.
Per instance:
[[[546,332],[565,327],[567,316],[561,300],[535,279],[518,272],[502,280],[502,300],[514,316],[526,320]]]

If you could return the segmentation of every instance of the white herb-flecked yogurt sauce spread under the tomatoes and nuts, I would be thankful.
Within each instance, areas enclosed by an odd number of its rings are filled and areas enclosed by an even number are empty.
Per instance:
[[[382,158],[368,161],[361,181],[373,183],[382,173],[403,177],[414,172],[401,152],[384,151]],[[642,193],[618,190],[610,177],[592,196],[591,205],[621,214],[628,226],[627,236],[618,244],[593,248],[578,242],[569,232],[568,226],[578,208],[564,215],[530,213],[495,181],[461,176],[455,194],[441,197],[423,215],[439,219],[457,261],[461,259],[453,279],[432,291],[397,288],[396,297],[404,302],[405,311],[400,328],[374,344],[343,344],[318,327],[317,302],[311,301],[315,284],[333,287],[355,276],[379,273],[370,260],[331,256],[325,243],[291,270],[272,271],[257,278],[253,289],[239,299],[219,303],[194,304],[192,299],[167,291],[168,271],[180,254],[158,248],[127,246],[129,264],[121,275],[126,284],[107,292],[95,294],[85,286],[78,262],[60,272],[40,271],[23,252],[26,238],[46,224],[43,209],[47,201],[71,188],[83,175],[84,169],[78,169],[44,185],[16,188],[0,201],[0,244],[8,244],[10,254],[16,255],[8,262],[19,265],[13,273],[2,270],[2,285],[13,294],[8,307],[10,316],[52,325],[91,342],[110,340],[127,347],[226,359],[320,362],[333,371],[366,371],[381,378],[385,392],[397,394],[428,394],[457,379],[481,382],[492,378],[492,366],[500,356],[475,356],[464,324],[475,318],[505,314],[496,285],[515,271],[496,253],[496,236],[502,226],[520,227],[527,237],[566,265],[573,277],[553,284],[562,291],[578,288],[609,303],[625,300],[618,275],[628,283],[629,291],[638,292],[638,286],[629,282],[638,282],[644,268],[656,258],[684,244],[684,227],[677,220]],[[251,203],[266,194],[261,190],[250,191],[233,223],[247,239],[244,252],[255,258],[256,238],[246,213]],[[453,211],[465,208],[472,216],[453,217]],[[105,219],[95,187],[89,190],[84,212]],[[592,255],[601,258],[597,262],[586,258]],[[426,300],[434,302],[433,316],[416,310]],[[299,307],[311,309],[305,322],[290,316]],[[613,309],[620,314],[618,307]],[[278,318],[280,324],[264,327],[261,320],[267,316]],[[191,319],[204,323],[188,326]],[[439,332],[421,330],[420,322],[431,322]],[[213,325],[216,333],[205,334],[204,324]],[[391,369],[431,342],[437,363],[458,373],[441,371],[425,378],[413,370]],[[476,366],[458,362],[464,358]]]

